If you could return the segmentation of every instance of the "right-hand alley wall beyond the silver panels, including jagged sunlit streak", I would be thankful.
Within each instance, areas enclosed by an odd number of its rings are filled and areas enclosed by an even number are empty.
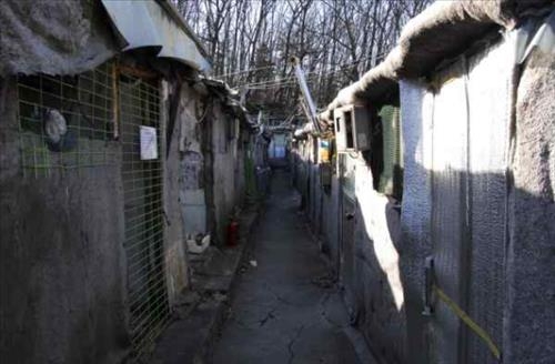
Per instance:
[[[372,171],[362,156],[337,156],[330,188],[320,182],[317,148],[309,136],[293,150],[293,182],[302,204],[345,292],[351,320],[377,356],[405,362],[403,285],[396,245],[400,214],[374,191]],[[342,170],[355,175],[355,201],[343,192]],[[354,212],[354,219],[343,219]]]

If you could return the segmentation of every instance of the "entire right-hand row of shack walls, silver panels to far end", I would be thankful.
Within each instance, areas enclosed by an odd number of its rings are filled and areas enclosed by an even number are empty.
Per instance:
[[[536,49],[519,67],[517,41],[516,33],[490,39],[427,82],[401,82],[401,216],[359,158],[345,164],[356,210],[346,222],[341,171],[322,193],[311,139],[297,142],[304,208],[332,262],[346,262],[335,266],[347,307],[387,362],[497,363],[437,294],[432,315],[422,315],[426,257],[437,287],[491,336],[504,363],[555,361],[555,63]],[[322,213],[335,218],[337,234],[321,229]]]

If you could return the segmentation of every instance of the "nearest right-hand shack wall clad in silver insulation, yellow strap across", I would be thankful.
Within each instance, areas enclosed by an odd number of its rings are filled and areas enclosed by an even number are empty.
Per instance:
[[[434,301],[430,318],[421,315],[426,256],[437,286],[505,363],[554,360],[553,335],[541,327],[553,326],[555,313],[539,307],[554,306],[555,296],[537,294],[555,273],[554,108],[544,95],[553,94],[553,60],[536,53],[521,77],[512,36],[435,72],[433,84],[401,83],[401,265],[410,357],[420,363],[497,362],[444,302]],[[537,334],[528,331],[534,322]]]

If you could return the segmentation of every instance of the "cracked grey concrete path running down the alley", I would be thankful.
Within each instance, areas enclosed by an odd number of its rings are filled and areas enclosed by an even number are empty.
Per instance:
[[[316,243],[299,214],[289,174],[274,172],[265,213],[253,232],[252,260],[239,279],[216,364],[359,363],[349,316]]]

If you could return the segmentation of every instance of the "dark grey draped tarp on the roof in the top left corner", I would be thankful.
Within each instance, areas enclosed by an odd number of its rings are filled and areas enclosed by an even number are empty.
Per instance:
[[[94,1],[0,1],[0,77],[75,74],[118,50]]]

